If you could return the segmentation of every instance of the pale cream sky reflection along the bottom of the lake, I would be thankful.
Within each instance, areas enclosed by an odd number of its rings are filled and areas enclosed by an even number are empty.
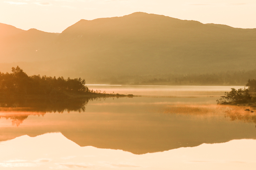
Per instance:
[[[0,169],[179,169],[254,170],[256,140],[202,144],[142,155],[122,150],[80,147],[61,133],[27,135],[0,143]],[[15,151],[15,152],[10,152]]]

